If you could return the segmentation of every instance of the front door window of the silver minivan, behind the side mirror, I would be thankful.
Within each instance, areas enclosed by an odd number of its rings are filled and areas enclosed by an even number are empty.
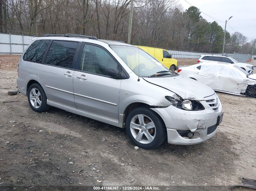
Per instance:
[[[79,70],[93,74],[107,75],[108,68],[117,68],[118,64],[104,49],[85,44],[81,55]]]

